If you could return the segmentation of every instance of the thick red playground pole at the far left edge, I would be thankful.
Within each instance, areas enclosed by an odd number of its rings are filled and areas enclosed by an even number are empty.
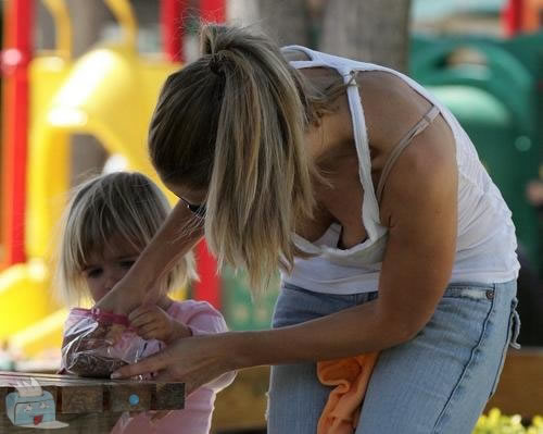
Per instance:
[[[4,9],[2,51],[2,265],[25,261],[28,64],[33,54],[33,0]]]

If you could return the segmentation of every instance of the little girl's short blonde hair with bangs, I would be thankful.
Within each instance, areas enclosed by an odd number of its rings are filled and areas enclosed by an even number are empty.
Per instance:
[[[90,298],[83,271],[91,255],[114,243],[138,252],[166,220],[171,207],[164,194],[140,173],[116,172],[92,177],[74,188],[63,218],[55,286],[68,305]],[[113,246],[112,246],[113,247]],[[162,294],[197,278],[192,252],[160,283]]]

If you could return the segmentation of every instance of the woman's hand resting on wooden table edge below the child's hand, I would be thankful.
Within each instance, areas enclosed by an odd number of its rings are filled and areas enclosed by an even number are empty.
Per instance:
[[[159,372],[153,380],[185,383],[185,394],[210,383],[222,374],[233,371],[232,355],[224,338],[228,334],[193,336],[178,339],[165,350],[115,371],[112,379],[126,379]]]

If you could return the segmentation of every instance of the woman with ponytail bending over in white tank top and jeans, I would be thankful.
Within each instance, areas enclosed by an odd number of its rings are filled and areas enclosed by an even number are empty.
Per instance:
[[[189,337],[117,374],[161,370],[190,393],[270,364],[268,433],[314,433],[329,394],[315,361],[380,350],[358,434],[470,432],[518,332],[518,262],[459,124],[377,65],[217,25],[202,52],[168,77],[150,127],[179,203],[99,305],[135,308],[116,300],[205,234],[253,288],[281,269],[274,330]]]

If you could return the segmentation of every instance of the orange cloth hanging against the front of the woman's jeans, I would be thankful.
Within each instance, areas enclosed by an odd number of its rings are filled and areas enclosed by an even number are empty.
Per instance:
[[[317,363],[320,383],[336,386],[318,420],[317,434],[354,433],[378,355],[369,352]]]

